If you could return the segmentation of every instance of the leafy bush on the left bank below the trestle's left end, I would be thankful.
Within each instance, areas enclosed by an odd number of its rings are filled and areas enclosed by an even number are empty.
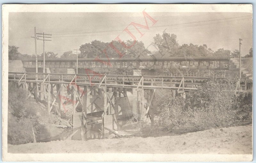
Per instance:
[[[27,99],[27,92],[18,89],[12,83],[8,87],[8,143],[24,144],[47,133],[40,121],[46,116],[46,110],[40,104]]]

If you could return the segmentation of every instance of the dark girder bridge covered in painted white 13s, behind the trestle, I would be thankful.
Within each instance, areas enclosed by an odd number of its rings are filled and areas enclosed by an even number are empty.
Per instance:
[[[46,68],[108,68],[108,69],[189,69],[228,70],[229,57],[169,57],[169,58],[46,58]],[[22,60],[24,68],[36,68],[36,59]],[[43,59],[38,59],[43,68]]]

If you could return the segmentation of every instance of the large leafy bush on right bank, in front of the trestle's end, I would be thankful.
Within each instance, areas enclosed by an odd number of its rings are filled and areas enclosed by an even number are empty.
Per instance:
[[[183,97],[162,96],[157,111],[157,126],[167,127],[174,123],[187,122],[195,130],[239,125],[252,121],[252,101],[246,102],[234,97],[232,80],[225,82],[210,78],[198,90]],[[244,105],[247,104],[247,105]]]

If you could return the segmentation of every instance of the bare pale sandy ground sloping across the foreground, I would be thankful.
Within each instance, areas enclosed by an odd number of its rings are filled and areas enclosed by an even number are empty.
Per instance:
[[[8,152],[252,154],[252,125],[209,129],[177,136],[8,144]]]

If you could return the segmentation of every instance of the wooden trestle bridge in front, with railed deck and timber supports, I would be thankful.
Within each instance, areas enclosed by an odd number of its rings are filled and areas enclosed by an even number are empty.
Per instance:
[[[73,105],[72,127],[80,128],[82,140],[90,136],[104,137],[109,133],[105,128],[119,129],[118,105],[121,98],[127,101],[127,108],[131,105],[127,96],[128,90],[137,91],[136,115],[137,120],[141,121],[146,119],[150,108],[152,109],[151,103],[156,89],[170,89],[183,94],[185,91],[197,90],[197,86],[206,79],[207,77],[195,76],[9,73],[9,82],[16,82],[18,87],[28,90],[28,98],[33,95],[36,100],[43,102],[49,114],[55,103],[58,104],[55,110],[60,116],[67,111],[66,105]],[[92,99],[88,99],[89,96]],[[97,102],[99,98],[102,103]],[[95,118],[93,113],[101,115]],[[91,132],[89,130],[93,130],[93,125],[101,125],[100,135],[88,134]],[[77,131],[78,129],[75,130]]]

